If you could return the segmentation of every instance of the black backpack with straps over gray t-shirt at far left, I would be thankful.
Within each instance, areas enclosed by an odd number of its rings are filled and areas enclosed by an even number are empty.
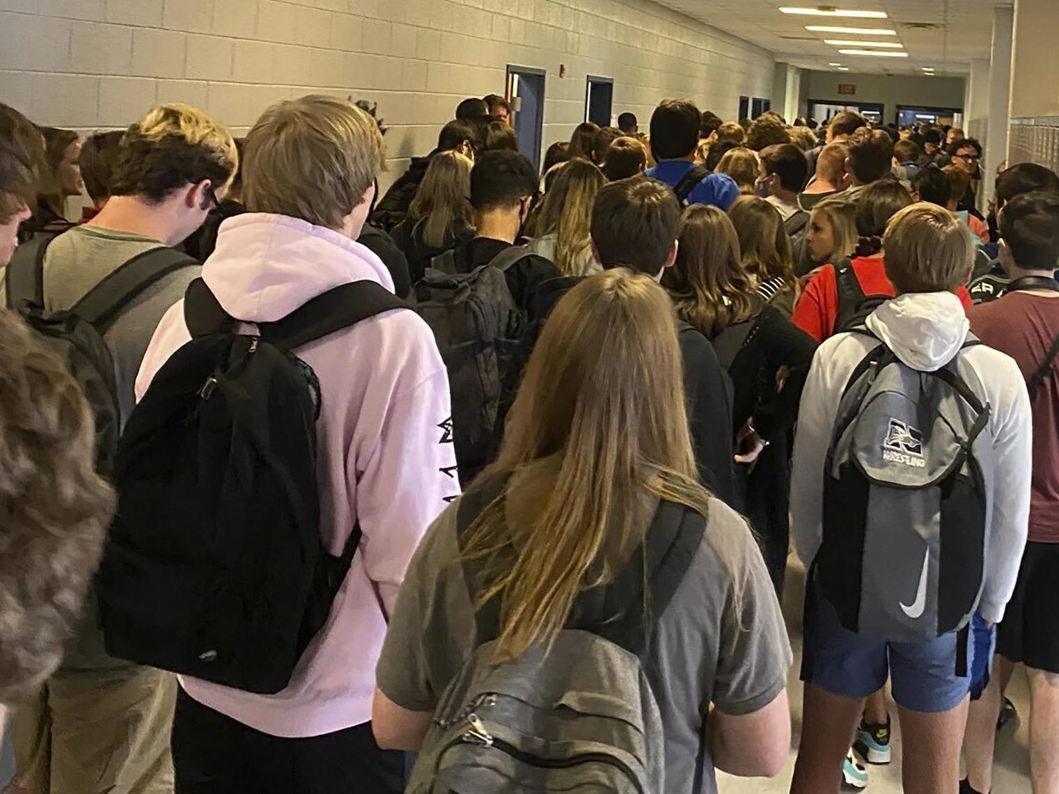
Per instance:
[[[172,248],[133,256],[66,311],[44,308],[44,254],[55,237],[38,237],[15,249],[7,265],[7,306],[18,311],[66,362],[92,407],[96,469],[109,475],[121,435],[122,417],[114,362],[103,339],[134,297],[169,273],[199,263]]]

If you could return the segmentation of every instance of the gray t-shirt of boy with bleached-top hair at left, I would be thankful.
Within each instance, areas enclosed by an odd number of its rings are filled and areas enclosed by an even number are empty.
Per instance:
[[[161,248],[150,237],[79,225],[60,234],[44,253],[44,308],[61,311],[77,301],[133,256]],[[191,258],[191,257],[189,257]],[[122,426],[136,407],[136,376],[162,315],[184,296],[184,290],[201,271],[181,268],[155,282],[133,297],[104,333],[114,361]],[[101,670],[130,667],[130,663],[107,655],[96,629],[95,601],[88,598],[75,634],[67,642],[65,670]]]

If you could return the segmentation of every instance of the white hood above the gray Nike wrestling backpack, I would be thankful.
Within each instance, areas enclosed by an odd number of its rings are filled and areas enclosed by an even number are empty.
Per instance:
[[[902,363],[923,373],[952,361],[971,327],[964,305],[951,292],[895,297],[876,309],[866,325]]]

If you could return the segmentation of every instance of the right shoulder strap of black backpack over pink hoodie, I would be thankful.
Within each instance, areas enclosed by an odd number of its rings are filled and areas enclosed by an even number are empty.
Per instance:
[[[283,320],[258,325],[262,339],[290,351],[391,309],[410,308],[378,282],[342,284],[317,295]]]

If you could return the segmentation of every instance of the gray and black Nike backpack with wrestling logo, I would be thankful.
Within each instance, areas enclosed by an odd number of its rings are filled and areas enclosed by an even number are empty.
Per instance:
[[[926,373],[878,342],[849,378],[824,471],[813,576],[850,631],[929,642],[964,631],[977,607],[993,441],[990,407],[964,356],[976,344],[969,337]]]

